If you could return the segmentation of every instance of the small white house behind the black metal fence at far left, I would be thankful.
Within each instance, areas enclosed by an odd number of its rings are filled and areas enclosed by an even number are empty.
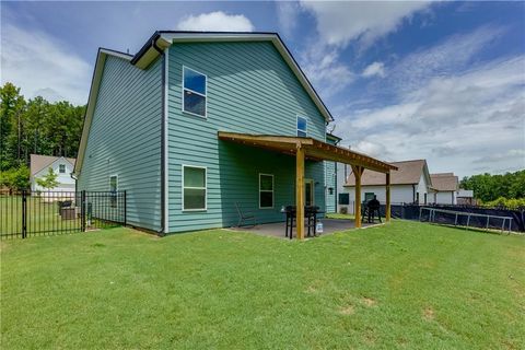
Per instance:
[[[74,179],[71,177],[71,173],[74,168],[74,159],[65,158],[65,156],[49,156],[49,155],[39,155],[31,154],[31,190],[33,191],[74,191]],[[52,168],[55,174],[57,174],[58,186],[52,189],[46,189],[40,187],[36,179],[44,177],[48,174],[49,167]]]

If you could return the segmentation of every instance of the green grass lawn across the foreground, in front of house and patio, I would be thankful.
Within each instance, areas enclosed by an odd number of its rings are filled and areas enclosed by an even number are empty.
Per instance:
[[[1,243],[2,349],[524,349],[525,237],[112,229]]]

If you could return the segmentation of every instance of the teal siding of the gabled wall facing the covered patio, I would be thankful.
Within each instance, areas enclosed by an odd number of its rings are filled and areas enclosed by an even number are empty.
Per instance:
[[[183,66],[207,75],[207,118],[182,109]],[[235,202],[259,222],[282,221],[295,203],[295,158],[218,140],[218,131],[296,136],[296,116],[308,137],[325,141],[325,119],[271,43],[175,44],[168,50],[170,232],[230,226]],[[183,165],[207,167],[207,210],[183,211]],[[275,176],[275,205],[259,209],[258,174]],[[325,209],[325,166],[306,162],[315,203]]]

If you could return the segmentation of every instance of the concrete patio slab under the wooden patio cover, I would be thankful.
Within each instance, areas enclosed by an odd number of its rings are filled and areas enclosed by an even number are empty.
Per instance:
[[[323,222],[323,233],[317,233],[317,235],[327,235],[332,234],[335,232],[348,231],[355,229],[355,221],[349,219],[322,219]],[[384,220],[383,220],[384,222]],[[378,224],[380,222],[376,221],[375,223],[368,223],[362,222],[362,226],[371,226],[374,224]],[[242,226],[242,228],[231,228],[230,230],[234,231],[243,231],[249,232],[255,234],[260,234],[265,236],[275,236],[290,240],[290,237],[284,236],[285,231],[285,222],[272,222],[272,223],[264,223],[258,224],[256,226]],[[313,235],[313,230],[312,230]],[[305,229],[305,237],[307,237],[307,229]],[[296,238],[295,228],[293,228],[293,237]]]

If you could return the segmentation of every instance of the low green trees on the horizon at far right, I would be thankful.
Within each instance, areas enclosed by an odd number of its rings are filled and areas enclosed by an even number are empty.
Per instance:
[[[472,189],[474,196],[483,203],[503,199],[525,198],[525,170],[504,175],[479,174],[465,176],[460,186]]]

